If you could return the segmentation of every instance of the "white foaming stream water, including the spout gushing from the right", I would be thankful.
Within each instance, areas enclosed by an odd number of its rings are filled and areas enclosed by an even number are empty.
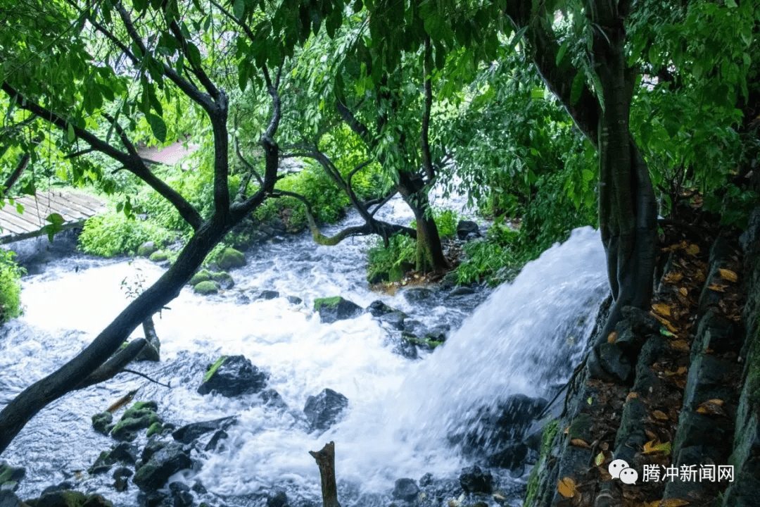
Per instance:
[[[122,374],[50,404],[3,455],[27,467],[20,496],[74,480],[80,490],[134,505],[135,486],[115,493],[106,486],[109,474],[80,478],[77,471],[86,471],[113,444],[93,431],[90,416],[135,388],[140,388],[137,400],[156,400],[159,414],[177,426],[239,416],[223,448],[194,455],[200,470],[178,477],[200,481],[227,505],[253,505],[252,495],[275,485],[318,498],[318,468],[307,452],[330,440],[336,442],[337,476],[349,496],[344,505],[361,505],[360,493],[387,493],[400,477],[419,479],[426,472],[455,477],[466,462],[446,436],[484,404],[515,392],[546,395],[549,385],[565,379],[607,291],[600,239],[591,228],[575,230],[568,242],[544,252],[466,319],[471,308],[457,298],[434,297],[413,306],[402,293],[369,291],[365,250],[359,240],[321,247],[306,237],[289,239],[248,252],[249,264],[233,271],[232,290],[211,297],[182,290],[171,309],[154,318],[161,362],[133,366],[172,388]],[[0,407],[112,320],[125,306],[122,280],[139,276],[150,284],[162,272],[144,259],[74,256],[26,277],[24,316],[0,329]],[[240,302],[240,295],[264,289],[299,296],[304,303],[293,305],[284,297]],[[435,352],[407,360],[393,353],[389,331],[369,314],[322,324],[312,301],[337,294],[361,306],[383,299],[430,327],[449,323],[452,331]],[[472,306],[479,299],[467,300]],[[257,395],[198,395],[207,364],[220,354],[243,354],[267,370],[269,387],[288,409],[265,409]],[[327,433],[309,435],[300,410],[323,388],[347,396],[349,409]]]

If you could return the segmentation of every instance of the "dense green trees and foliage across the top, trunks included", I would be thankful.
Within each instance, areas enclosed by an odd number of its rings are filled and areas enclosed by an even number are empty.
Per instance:
[[[429,192],[463,192],[494,225],[458,280],[492,283],[598,223],[615,325],[622,306],[649,304],[658,216],[677,222],[688,202],[741,227],[758,202],[758,21],[760,6],[738,0],[0,8],[6,198],[59,184],[114,196],[116,214],[82,235],[98,255],[182,240],[83,354],[5,407],[0,452],[46,403],[105,378],[90,375],[207,255],[274,217],[325,245],[378,236],[370,271],[441,273],[454,214]],[[188,134],[192,169],[137,154]],[[414,223],[375,218],[395,194]],[[347,205],[364,225],[322,235]],[[49,221],[53,233],[60,217]],[[0,273],[5,318],[17,272],[4,261]]]

